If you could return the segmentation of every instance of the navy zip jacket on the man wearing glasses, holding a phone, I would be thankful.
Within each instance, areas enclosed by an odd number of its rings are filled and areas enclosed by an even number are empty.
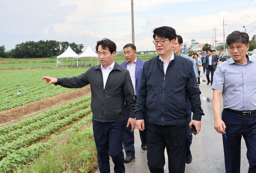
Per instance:
[[[143,65],[136,100],[136,119],[143,119],[146,108],[148,122],[156,125],[177,125],[186,122],[186,93],[194,120],[201,120],[200,94],[190,60],[174,55],[166,70],[156,56]]]

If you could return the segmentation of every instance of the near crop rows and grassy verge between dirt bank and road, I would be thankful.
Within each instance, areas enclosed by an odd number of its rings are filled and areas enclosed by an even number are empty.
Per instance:
[[[0,172],[97,168],[90,97],[0,127]]]

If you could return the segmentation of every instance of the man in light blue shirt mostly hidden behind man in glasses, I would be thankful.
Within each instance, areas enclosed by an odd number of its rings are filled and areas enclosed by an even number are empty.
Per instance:
[[[195,61],[193,60],[193,58],[181,54],[182,46],[183,46],[183,39],[180,35],[177,35],[173,51],[176,55],[180,55],[184,58],[187,58],[192,62],[193,69],[194,69],[195,76],[196,76],[195,80],[197,81],[197,77],[199,77],[199,75],[198,75],[198,72],[197,72],[197,69],[196,69]],[[186,125],[187,125],[187,127],[186,127],[186,163],[190,164],[191,161],[192,161],[192,155],[191,155],[191,152],[190,152],[190,145],[192,143],[192,138],[193,137],[192,137],[192,133],[190,132],[190,127],[189,127],[192,112],[191,112],[191,103],[189,102],[188,97],[186,98],[186,106],[187,106],[187,113],[188,113],[187,122],[186,122]]]

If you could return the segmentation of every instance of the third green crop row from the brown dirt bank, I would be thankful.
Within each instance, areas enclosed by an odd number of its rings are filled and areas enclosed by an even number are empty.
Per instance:
[[[5,143],[3,146],[0,147],[0,158],[5,157],[7,154],[12,153],[15,150],[18,150],[22,146],[27,146],[34,141],[46,137],[52,132],[60,129],[62,126],[65,126],[76,119],[79,119],[85,116],[91,109],[80,110],[64,119],[57,120],[56,122],[52,122],[49,125],[45,126],[43,129],[34,130],[29,134],[25,134],[20,136],[18,139],[13,140],[11,143]]]

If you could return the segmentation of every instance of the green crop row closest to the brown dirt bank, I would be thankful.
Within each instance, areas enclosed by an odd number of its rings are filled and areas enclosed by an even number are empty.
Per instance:
[[[17,123],[14,123],[14,124],[10,124],[9,126],[0,127],[0,134],[8,134],[9,132],[12,132],[16,129],[21,129],[22,127],[25,127],[25,126],[27,126],[31,123],[38,122],[38,121],[40,121],[40,120],[42,120],[42,119],[44,119],[48,116],[56,115],[57,113],[62,112],[63,110],[70,109],[73,106],[78,106],[83,102],[90,101],[90,99],[91,99],[90,96],[80,98],[80,99],[78,99],[74,102],[70,102],[66,105],[61,105],[61,106],[58,106],[56,108],[52,108],[52,109],[47,110],[43,113],[39,113],[36,116],[32,116],[32,117],[29,117],[27,119],[23,119],[20,122],[17,122]],[[0,140],[1,140],[1,138],[0,138]]]

